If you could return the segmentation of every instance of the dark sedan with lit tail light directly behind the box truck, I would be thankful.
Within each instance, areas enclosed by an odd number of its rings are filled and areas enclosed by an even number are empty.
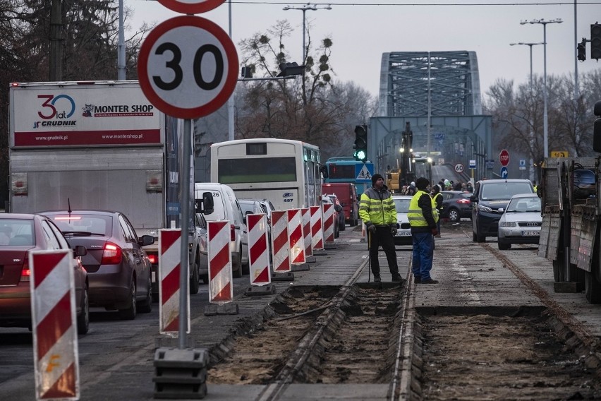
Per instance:
[[[138,238],[123,213],[108,210],[44,212],[71,246],[83,245],[82,264],[90,281],[90,306],[119,311],[134,319],[152,311],[151,263],[142,246],[154,244],[150,235]]]

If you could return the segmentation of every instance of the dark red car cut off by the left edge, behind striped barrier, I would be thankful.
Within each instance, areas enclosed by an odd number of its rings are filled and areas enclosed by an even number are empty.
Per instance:
[[[71,244],[48,217],[0,213],[0,326],[31,330],[30,251],[71,249]],[[73,283],[79,334],[90,327],[88,277],[80,262],[83,246],[75,246]]]

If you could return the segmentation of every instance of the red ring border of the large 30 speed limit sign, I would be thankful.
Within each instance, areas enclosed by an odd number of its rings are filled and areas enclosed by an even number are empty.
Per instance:
[[[210,32],[214,37],[219,40],[219,43],[224,47],[226,52],[226,58],[228,61],[228,72],[226,75],[226,82],[221,92],[210,102],[200,107],[192,109],[184,109],[182,107],[176,107],[172,104],[165,102],[157,92],[154,92],[150,83],[150,77],[148,76],[148,58],[150,56],[150,50],[154,43],[169,30],[174,28],[181,28],[183,26],[193,26]],[[197,16],[178,16],[164,21],[157,25],[150,31],[142,46],[140,47],[140,54],[138,55],[138,81],[142,92],[147,99],[160,111],[164,112],[169,116],[178,117],[181,119],[195,119],[202,116],[207,116],[212,112],[215,112],[219,107],[227,102],[233,90],[236,88],[238,82],[238,52],[234,46],[231,37],[216,23],[206,18]]]

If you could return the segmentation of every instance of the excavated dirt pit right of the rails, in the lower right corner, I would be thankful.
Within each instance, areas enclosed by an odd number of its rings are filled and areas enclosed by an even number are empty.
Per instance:
[[[601,400],[543,316],[421,316],[424,400]]]

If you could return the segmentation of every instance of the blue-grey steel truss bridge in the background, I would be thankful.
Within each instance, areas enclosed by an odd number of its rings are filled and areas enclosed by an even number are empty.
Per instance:
[[[461,162],[466,169],[476,160],[476,179],[487,176],[492,118],[482,115],[475,52],[382,54],[380,106],[370,119],[368,135],[368,158],[375,162],[375,171],[398,164],[406,121],[411,123],[414,152],[435,152],[444,162]]]

